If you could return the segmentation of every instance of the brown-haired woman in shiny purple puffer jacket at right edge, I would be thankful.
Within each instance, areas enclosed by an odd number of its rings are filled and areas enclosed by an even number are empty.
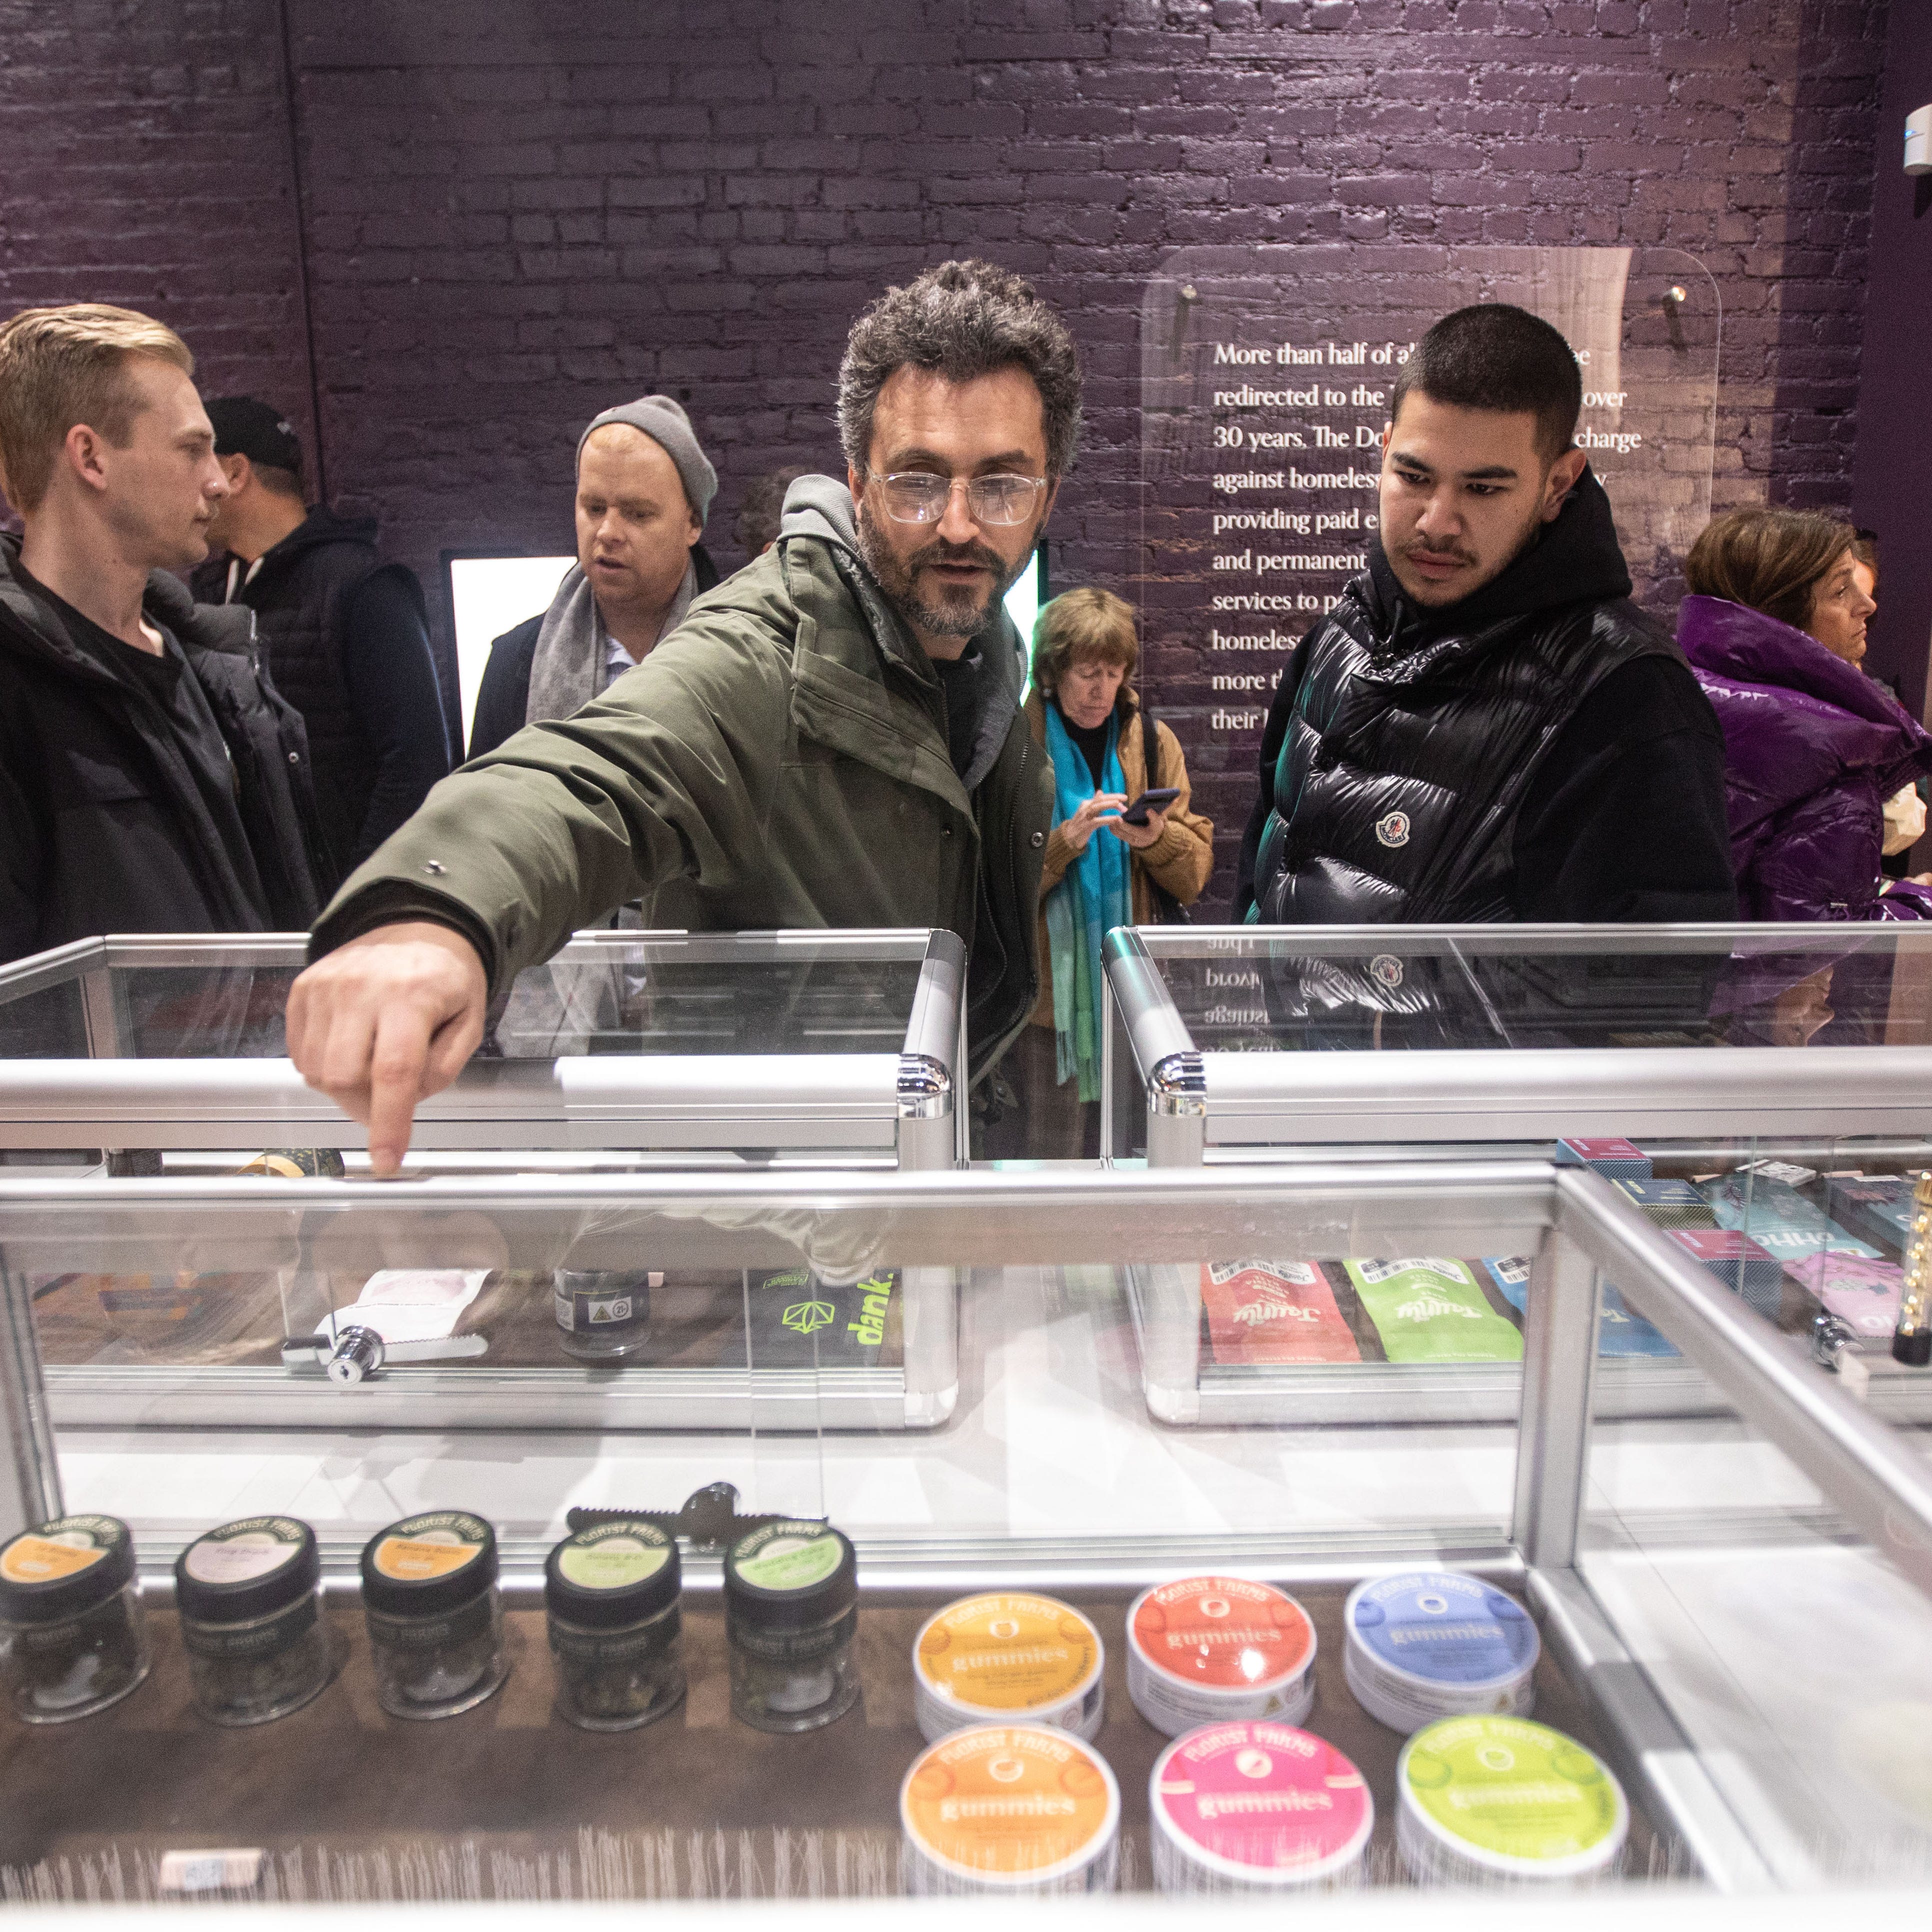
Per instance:
[[[1747,920],[1932,920],[1886,879],[1886,802],[1932,773],[1932,734],[1861,668],[1876,605],[1855,531],[1806,510],[1733,510],[1690,551],[1677,641],[1723,724]]]

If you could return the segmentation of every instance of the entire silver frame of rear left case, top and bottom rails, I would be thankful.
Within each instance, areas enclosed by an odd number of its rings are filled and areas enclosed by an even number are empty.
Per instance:
[[[309,1088],[288,1059],[133,1057],[129,972],[141,968],[299,970],[307,937],[133,935],[77,941],[0,968],[0,1007],[71,989],[91,1059],[0,1061],[0,1148],[348,1148],[359,1122]],[[943,929],[777,931],[694,935],[585,931],[556,966],[721,966],[887,960],[918,968],[896,1053],[665,1055],[578,1053],[554,1061],[471,1061],[417,1109],[412,1159],[502,1153],[527,1165],[589,1161],[678,1167],[765,1167],[788,1159],[947,1169],[966,1159],[966,949]],[[541,968],[549,970],[549,968]],[[166,1184],[193,1184],[170,1177]],[[328,1184],[332,1186],[332,1182]],[[299,1258],[294,1267],[305,1265]],[[935,1428],[958,1389],[958,1283],[914,1269],[900,1283],[902,1366],[850,1366],[800,1376],[761,1368],[755,1385],[730,1368],[628,1366],[605,1391],[612,1428]],[[286,1337],[299,1343],[301,1337]],[[458,1352],[444,1349],[442,1352]],[[570,1426],[582,1408],[576,1368],[452,1368],[421,1360],[384,1368],[355,1393],[357,1420],[408,1426],[439,1387],[454,1387],[498,1428]],[[46,1370],[58,1422],[276,1426],[292,1414],[344,1426],[342,1391],[321,1358],[290,1366],[164,1368],[60,1364]]]

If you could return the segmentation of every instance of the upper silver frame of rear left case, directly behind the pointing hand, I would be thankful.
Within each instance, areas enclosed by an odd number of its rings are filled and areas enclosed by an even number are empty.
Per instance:
[[[305,933],[110,935],[0,966],[0,1005],[71,985],[87,1059],[0,1061],[0,1148],[363,1148],[363,1128],[286,1059],[135,1059],[128,968],[292,970]],[[583,931],[551,966],[918,962],[896,1053],[570,1055],[471,1061],[417,1109],[412,1146],[632,1150],[740,1157],[786,1150],[902,1169],[966,1159],[966,949],[941,929]],[[539,968],[547,970],[547,968]]]

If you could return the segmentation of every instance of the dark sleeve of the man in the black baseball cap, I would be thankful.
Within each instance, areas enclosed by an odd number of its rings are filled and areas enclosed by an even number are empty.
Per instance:
[[[357,587],[348,609],[342,670],[355,719],[377,755],[375,788],[352,866],[361,864],[450,769],[442,692],[419,597],[394,568],[384,568]]]

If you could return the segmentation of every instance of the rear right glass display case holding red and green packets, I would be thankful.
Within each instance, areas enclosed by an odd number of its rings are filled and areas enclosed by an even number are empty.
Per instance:
[[[1901,1200],[1932,1165],[1932,935],[1140,927],[1109,933],[1107,978],[1109,1157],[1594,1163],[1789,1333],[1841,1323],[1872,1403],[1932,1416],[1932,1379],[1889,1356]],[[1155,1414],[1515,1410],[1520,1256],[1439,1256],[1401,1281],[1356,1258],[1302,1273],[1132,1269]],[[1395,1318],[1401,1289],[1439,1316]],[[1298,1314],[1310,1296],[1323,1321]],[[1605,1412],[1718,1405],[1615,1294],[1600,1356]]]

